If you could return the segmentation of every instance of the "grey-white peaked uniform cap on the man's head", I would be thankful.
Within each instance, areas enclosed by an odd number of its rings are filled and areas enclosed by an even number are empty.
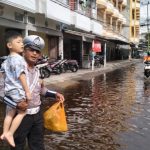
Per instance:
[[[24,43],[24,47],[30,47],[38,51],[41,51],[45,46],[44,40],[37,35],[26,36],[23,40],[23,43]]]

